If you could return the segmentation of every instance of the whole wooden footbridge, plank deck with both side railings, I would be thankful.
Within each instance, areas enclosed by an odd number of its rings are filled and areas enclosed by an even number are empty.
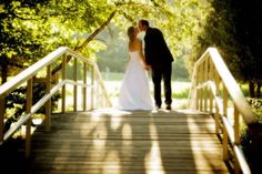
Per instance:
[[[72,80],[66,75],[69,57],[73,58]],[[54,84],[51,72],[56,61],[62,62],[62,71]],[[33,78],[43,70],[46,95],[32,103]],[[27,85],[27,110],[3,132],[4,98],[21,85]],[[73,86],[72,111],[67,106],[67,85]],[[51,96],[57,92],[62,94],[61,112],[52,113]],[[0,144],[26,125],[24,155],[30,163],[24,173],[251,173],[240,145],[240,124],[252,127],[258,121],[213,48],[195,63],[189,101],[187,110],[115,110],[97,64],[59,48],[0,86]],[[44,121],[32,131],[33,115],[42,106]]]

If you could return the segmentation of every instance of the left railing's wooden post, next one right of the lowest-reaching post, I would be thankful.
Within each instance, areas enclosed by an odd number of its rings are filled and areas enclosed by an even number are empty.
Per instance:
[[[51,65],[47,66],[47,76],[46,76],[46,93],[49,94],[51,90]],[[51,127],[51,99],[44,104],[46,117],[44,117],[44,131],[50,132]]]

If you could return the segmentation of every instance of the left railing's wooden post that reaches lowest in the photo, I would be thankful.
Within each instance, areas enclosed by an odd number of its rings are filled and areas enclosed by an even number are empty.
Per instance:
[[[31,108],[32,108],[32,79],[28,80],[27,83],[27,108],[26,108],[26,113],[30,114],[31,113]],[[27,122],[27,127],[26,127],[26,157],[28,158],[31,153],[31,125],[32,125],[32,117]]]

